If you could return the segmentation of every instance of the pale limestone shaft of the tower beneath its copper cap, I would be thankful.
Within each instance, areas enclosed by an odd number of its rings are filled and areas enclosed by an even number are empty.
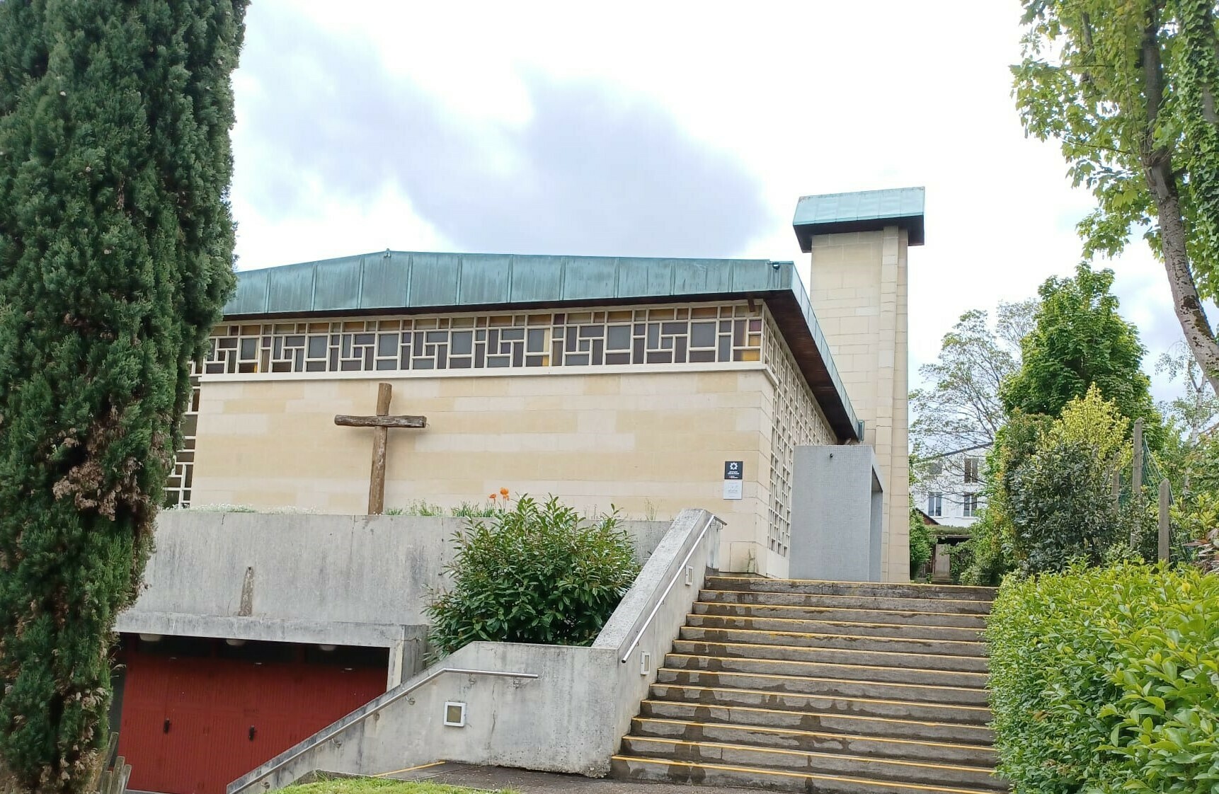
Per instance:
[[[886,581],[909,578],[907,233],[816,235],[809,298],[885,492]]]

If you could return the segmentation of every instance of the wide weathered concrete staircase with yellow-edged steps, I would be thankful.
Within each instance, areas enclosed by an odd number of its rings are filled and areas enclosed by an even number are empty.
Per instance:
[[[984,587],[709,577],[614,777],[812,792],[1006,792]]]

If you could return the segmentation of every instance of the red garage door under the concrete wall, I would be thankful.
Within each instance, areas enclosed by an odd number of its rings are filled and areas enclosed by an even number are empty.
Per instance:
[[[118,751],[132,765],[132,789],[224,794],[234,779],[385,692],[384,650],[324,655],[283,643],[234,650],[223,641],[177,639],[189,648],[174,652],[174,642],[119,656]]]

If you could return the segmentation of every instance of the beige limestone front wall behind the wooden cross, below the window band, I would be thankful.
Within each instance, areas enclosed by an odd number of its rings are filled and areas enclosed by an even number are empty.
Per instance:
[[[725,570],[786,575],[767,549],[774,385],[761,363],[718,371],[205,379],[195,505],[367,508],[372,430],[335,414],[371,414],[377,384],[390,413],[424,430],[391,430],[385,505],[444,507],[555,494],[585,511],[673,519],[705,508],[727,524]],[[723,464],[745,464],[744,498],[723,498]]]

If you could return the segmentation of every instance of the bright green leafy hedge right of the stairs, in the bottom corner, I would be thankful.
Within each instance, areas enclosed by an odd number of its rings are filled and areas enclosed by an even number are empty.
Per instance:
[[[1007,577],[986,642],[1017,794],[1219,789],[1219,576],[1124,563]]]

